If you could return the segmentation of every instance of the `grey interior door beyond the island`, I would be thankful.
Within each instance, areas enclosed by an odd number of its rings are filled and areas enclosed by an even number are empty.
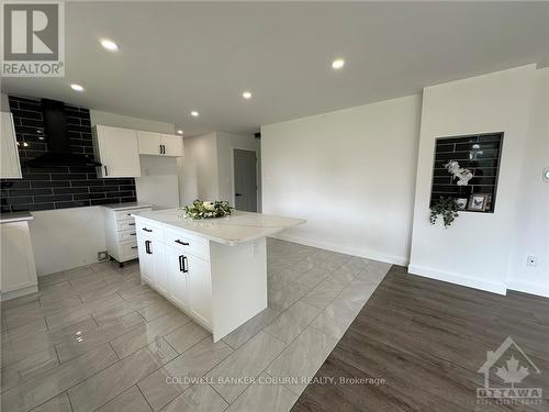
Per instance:
[[[257,212],[256,152],[234,151],[235,208]]]

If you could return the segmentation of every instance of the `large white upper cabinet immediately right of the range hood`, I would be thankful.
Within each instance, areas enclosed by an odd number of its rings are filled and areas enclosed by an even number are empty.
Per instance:
[[[139,177],[137,131],[97,125],[93,127],[93,152],[101,162],[99,177]]]

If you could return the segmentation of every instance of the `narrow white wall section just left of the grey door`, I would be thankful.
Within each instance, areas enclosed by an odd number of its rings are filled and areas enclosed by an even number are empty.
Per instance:
[[[197,198],[219,198],[217,136],[208,133],[183,138],[184,156],[178,159],[179,200],[190,204]]]

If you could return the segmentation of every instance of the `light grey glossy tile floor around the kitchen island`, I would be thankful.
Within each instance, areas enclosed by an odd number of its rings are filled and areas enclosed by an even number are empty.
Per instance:
[[[223,341],[104,263],[2,303],[3,411],[287,411],[390,265],[268,240],[269,308]]]

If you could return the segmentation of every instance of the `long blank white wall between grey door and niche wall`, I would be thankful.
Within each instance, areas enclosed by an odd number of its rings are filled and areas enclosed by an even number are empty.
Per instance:
[[[422,99],[261,127],[262,210],[304,218],[281,237],[406,264]]]

